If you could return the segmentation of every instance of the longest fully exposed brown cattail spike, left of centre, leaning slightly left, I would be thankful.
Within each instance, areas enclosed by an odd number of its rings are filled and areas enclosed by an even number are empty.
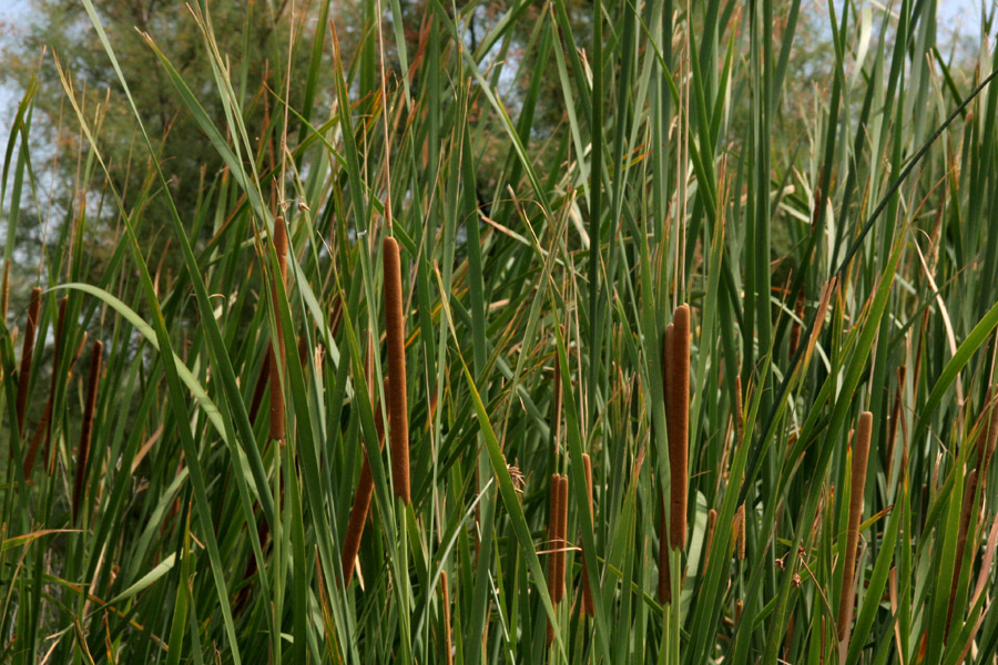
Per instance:
[[[406,320],[403,313],[401,258],[395,238],[383,245],[385,270],[385,338],[388,346],[388,441],[391,443],[391,480],[395,495],[405,503],[409,494],[409,408],[406,403]]]

